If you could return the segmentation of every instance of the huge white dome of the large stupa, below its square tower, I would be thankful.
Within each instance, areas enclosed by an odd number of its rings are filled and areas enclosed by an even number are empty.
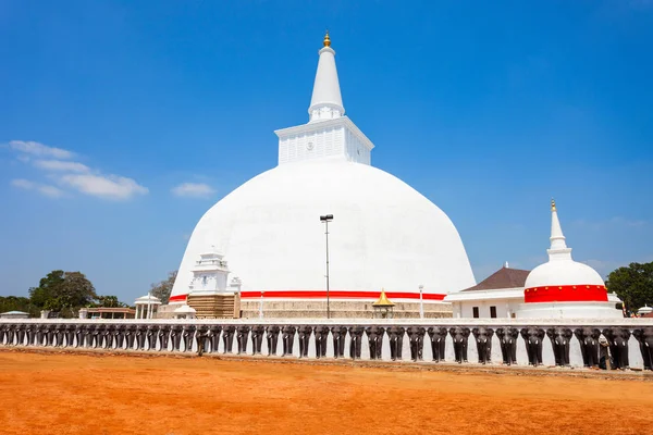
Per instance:
[[[344,158],[287,163],[220,200],[199,221],[173,296],[186,295],[192,268],[212,246],[243,290],[323,290],[329,224],[332,290],[424,294],[476,284],[452,221],[401,179]]]

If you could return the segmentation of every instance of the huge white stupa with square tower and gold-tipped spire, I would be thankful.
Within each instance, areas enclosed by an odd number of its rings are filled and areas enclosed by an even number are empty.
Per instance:
[[[171,303],[192,290],[194,266],[215,247],[242,279],[242,298],[441,301],[476,284],[456,227],[401,179],[371,166],[373,145],[347,117],[329,35],[307,124],[276,130],[279,165],[215,203],[186,247]],[[389,116],[391,116],[389,114]],[[397,145],[406,147],[405,144]]]

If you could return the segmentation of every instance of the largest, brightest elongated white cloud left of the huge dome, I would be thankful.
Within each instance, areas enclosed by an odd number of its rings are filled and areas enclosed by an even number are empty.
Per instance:
[[[60,181],[83,194],[108,199],[130,199],[149,191],[134,179],[119,175],[67,174]]]

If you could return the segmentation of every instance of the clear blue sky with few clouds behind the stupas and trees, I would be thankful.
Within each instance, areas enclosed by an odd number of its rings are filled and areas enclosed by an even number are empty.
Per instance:
[[[133,301],[307,122],[330,29],[372,164],[456,224],[478,281],[653,261],[653,1],[0,2],[0,295],[53,269]],[[320,231],[317,228],[317,231]]]

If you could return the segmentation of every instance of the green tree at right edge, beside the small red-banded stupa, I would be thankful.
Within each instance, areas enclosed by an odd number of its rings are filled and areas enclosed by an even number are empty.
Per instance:
[[[653,307],[653,262],[619,268],[607,275],[605,285],[617,294],[630,312],[644,304]]]

